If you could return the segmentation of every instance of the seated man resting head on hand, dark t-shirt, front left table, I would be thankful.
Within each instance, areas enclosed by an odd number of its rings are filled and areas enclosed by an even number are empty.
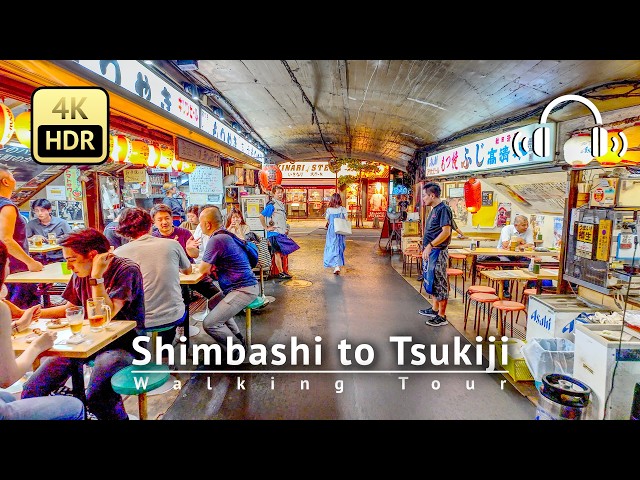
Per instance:
[[[87,299],[103,297],[111,308],[114,320],[135,320],[144,327],[144,290],[142,273],[137,263],[117,257],[109,240],[93,228],[70,233],[60,240],[62,252],[73,272],[62,297],[64,305],[43,308],[43,318],[62,318],[66,308],[84,306]],[[135,330],[110,343],[85,362],[94,360],[89,386],[87,409],[99,420],[127,420],[122,396],[111,388],[111,377],[133,362],[132,341]],[[49,357],[26,381],[22,398],[49,395],[62,387],[71,375],[74,362],[66,357]]]

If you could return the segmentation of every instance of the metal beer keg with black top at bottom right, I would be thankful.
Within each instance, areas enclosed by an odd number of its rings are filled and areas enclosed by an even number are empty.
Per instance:
[[[591,388],[569,375],[548,373],[538,390],[536,420],[584,420]]]

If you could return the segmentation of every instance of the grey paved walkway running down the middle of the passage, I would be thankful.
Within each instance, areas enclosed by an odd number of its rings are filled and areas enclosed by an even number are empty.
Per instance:
[[[291,222],[301,249],[290,257],[291,281],[268,280],[275,301],[253,312],[253,345],[268,351],[284,345],[284,365],[206,367],[190,360],[175,373],[182,389],[163,396],[171,402],[164,419],[412,420],[514,419],[535,417],[535,406],[500,373],[482,366],[422,362],[431,348],[469,344],[452,325],[428,327],[417,313],[428,306],[413,285],[378,248],[379,230],[356,229],[347,239],[347,265],[341,275],[322,267],[326,231],[305,221]],[[320,222],[323,225],[324,222]],[[398,257],[398,255],[395,255]],[[417,283],[417,282],[415,282]],[[419,286],[419,284],[418,284]],[[244,329],[244,315],[236,317]],[[201,325],[201,324],[196,324]],[[425,350],[412,354],[392,337],[410,338]],[[293,338],[310,347],[310,362],[291,359]],[[212,343],[200,332],[195,343]],[[338,345],[347,342],[346,365]],[[469,352],[475,344],[469,344]],[[402,350],[401,360],[398,350]],[[319,353],[318,353],[319,351]],[[369,364],[367,356],[373,352]],[[469,353],[468,352],[468,353]],[[356,355],[361,365],[356,364]],[[473,354],[468,357],[475,361]],[[269,360],[273,357],[267,357]],[[451,357],[453,358],[453,357]],[[453,363],[453,360],[451,360]],[[233,368],[234,370],[231,370]],[[213,372],[215,370],[215,372]],[[470,386],[473,385],[473,389]],[[157,402],[162,402],[158,400]],[[155,408],[155,407],[154,407]],[[158,407],[160,408],[160,407]],[[164,410],[163,410],[164,411]],[[155,418],[155,417],[151,417]]]

